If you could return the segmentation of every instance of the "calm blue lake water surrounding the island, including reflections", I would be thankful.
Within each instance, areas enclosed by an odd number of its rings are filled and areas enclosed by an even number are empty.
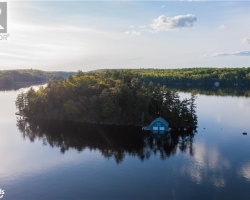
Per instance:
[[[163,142],[124,127],[27,126],[17,94],[0,92],[3,199],[250,198],[250,98],[198,95],[195,135]]]

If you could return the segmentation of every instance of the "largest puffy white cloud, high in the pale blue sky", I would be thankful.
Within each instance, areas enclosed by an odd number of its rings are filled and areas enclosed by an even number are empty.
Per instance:
[[[154,22],[150,25],[150,28],[155,31],[169,31],[179,28],[192,27],[196,21],[197,17],[192,14],[177,15],[174,17],[166,17],[161,15],[154,19]]]

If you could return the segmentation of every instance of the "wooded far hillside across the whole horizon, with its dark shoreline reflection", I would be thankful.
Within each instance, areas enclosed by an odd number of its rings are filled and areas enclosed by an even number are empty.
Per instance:
[[[78,73],[83,73],[78,71]],[[205,94],[231,94],[249,96],[250,68],[181,68],[181,69],[100,69],[83,74],[103,79],[121,79],[121,74],[130,74],[136,81],[165,85],[179,91]],[[26,86],[65,79],[75,72],[47,72],[34,69],[0,71],[0,89],[18,89]]]

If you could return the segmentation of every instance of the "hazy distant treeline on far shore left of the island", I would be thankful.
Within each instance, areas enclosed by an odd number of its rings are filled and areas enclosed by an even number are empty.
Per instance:
[[[46,82],[52,79],[63,79],[74,72],[46,72],[34,69],[1,70],[0,88],[11,88],[14,84]]]

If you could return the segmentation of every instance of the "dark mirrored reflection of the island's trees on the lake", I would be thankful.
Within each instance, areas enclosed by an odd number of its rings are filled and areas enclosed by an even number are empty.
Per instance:
[[[86,148],[99,150],[104,157],[115,158],[117,163],[122,162],[126,155],[136,156],[142,161],[153,155],[166,159],[178,150],[193,155],[195,130],[191,129],[152,134],[132,126],[23,119],[17,121],[17,126],[23,138],[31,142],[41,140],[44,145],[60,148],[62,153],[69,149],[79,152]]]

